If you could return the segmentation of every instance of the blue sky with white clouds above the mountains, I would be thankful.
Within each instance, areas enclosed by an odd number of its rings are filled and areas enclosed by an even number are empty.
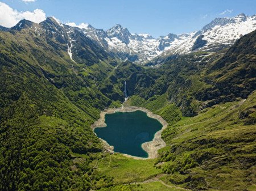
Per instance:
[[[0,0],[0,25],[21,19],[42,22],[54,16],[61,23],[89,23],[109,29],[115,24],[131,33],[154,37],[199,31],[214,18],[256,14],[255,0]]]

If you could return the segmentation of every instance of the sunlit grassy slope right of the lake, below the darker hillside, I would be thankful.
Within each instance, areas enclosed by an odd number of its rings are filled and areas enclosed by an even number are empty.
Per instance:
[[[128,103],[144,106],[141,100],[131,97]],[[162,133],[167,147],[159,151],[155,163],[168,174],[163,180],[193,190],[254,190],[255,107],[254,91],[246,100],[213,105],[195,117],[168,121]]]

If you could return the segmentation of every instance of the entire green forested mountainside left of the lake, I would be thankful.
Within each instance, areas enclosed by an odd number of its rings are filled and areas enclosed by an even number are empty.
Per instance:
[[[102,152],[90,125],[119,105],[97,88],[113,66],[73,62],[65,42],[28,24],[0,32],[0,190],[88,190],[106,179],[89,167]]]

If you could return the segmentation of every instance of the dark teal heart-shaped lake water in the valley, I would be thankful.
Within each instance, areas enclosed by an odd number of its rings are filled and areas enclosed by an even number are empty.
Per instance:
[[[163,127],[142,111],[106,114],[105,123],[106,127],[94,129],[99,138],[114,146],[115,152],[143,158],[148,154],[142,149],[142,143],[152,141],[155,133]]]

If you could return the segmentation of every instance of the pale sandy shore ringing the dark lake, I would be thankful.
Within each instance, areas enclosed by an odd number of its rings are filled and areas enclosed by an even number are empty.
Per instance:
[[[148,158],[141,158],[141,157],[131,156],[131,155],[127,155],[127,154],[122,154],[122,155],[128,156],[130,158],[134,158],[134,159],[154,159],[158,156],[158,150],[160,148],[163,148],[166,146],[166,143],[161,138],[161,133],[164,129],[167,128],[167,122],[164,121],[164,119],[161,116],[152,113],[151,111],[149,111],[146,108],[135,107],[135,106],[128,106],[128,107],[122,106],[120,108],[106,109],[105,111],[102,111],[100,113],[100,118],[96,122],[94,122],[94,124],[91,125],[91,128],[94,130],[95,128],[98,128],[98,127],[105,127],[106,126],[105,114],[110,114],[110,113],[115,113],[115,112],[135,112],[138,110],[146,112],[148,117],[155,118],[156,120],[158,120],[163,125],[163,128],[155,133],[155,137],[152,141],[142,144],[142,148],[148,153]],[[112,152],[112,153],[114,152],[113,146],[110,146],[103,139],[101,139],[101,141],[106,150],[108,150],[109,152]]]

